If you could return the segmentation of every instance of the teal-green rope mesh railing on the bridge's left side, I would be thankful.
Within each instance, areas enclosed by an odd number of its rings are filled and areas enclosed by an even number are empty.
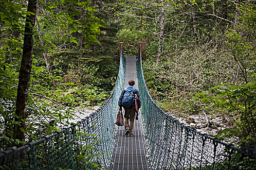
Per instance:
[[[119,75],[107,102],[76,125],[23,147],[1,152],[0,170],[110,169],[117,134],[114,120],[125,82],[122,48],[120,53]],[[96,164],[100,166],[95,167]]]

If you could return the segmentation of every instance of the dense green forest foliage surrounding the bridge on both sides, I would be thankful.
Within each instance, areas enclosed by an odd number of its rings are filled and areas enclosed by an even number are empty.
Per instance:
[[[0,143],[31,142],[108,98],[118,42],[137,55],[165,111],[232,124],[218,137],[256,145],[256,3],[250,0],[38,0],[25,141],[13,138],[27,1],[0,2]],[[104,92],[104,93],[99,93]],[[60,127],[59,127],[60,126]],[[39,128],[38,128],[39,127]]]

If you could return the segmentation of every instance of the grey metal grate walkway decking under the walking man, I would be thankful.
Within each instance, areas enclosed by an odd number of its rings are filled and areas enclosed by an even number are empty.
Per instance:
[[[125,86],[128,85],[129,79],[134,79],[134,87],[138,89],[136,56],[126,57]],[[112,170],[148,170],[140,115],[139,120],[134,120],[133,136],[125,136],[125,127],[119,127],[114,155]]]

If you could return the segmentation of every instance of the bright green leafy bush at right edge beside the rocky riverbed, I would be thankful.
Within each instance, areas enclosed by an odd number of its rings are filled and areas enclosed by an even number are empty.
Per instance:
[[[197,93],[193,99],[213,103],[213,108],[231,118],[234,128],[225,129],[220,134],[239,136],[239,144],[256,146],[256,81],[244,85],[218,85],[211,89],[211,93]]]

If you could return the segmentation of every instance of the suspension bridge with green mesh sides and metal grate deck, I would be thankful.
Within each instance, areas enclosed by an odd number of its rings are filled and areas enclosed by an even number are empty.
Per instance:
[[[256,170],[256,149],[201,134],[166,114],[150,97],[138,56],[124,56],[110,98],[61,131],[0,153],[0,170]],[[133,136],[114,124],[121,91],[134,79],[142,107]]]

